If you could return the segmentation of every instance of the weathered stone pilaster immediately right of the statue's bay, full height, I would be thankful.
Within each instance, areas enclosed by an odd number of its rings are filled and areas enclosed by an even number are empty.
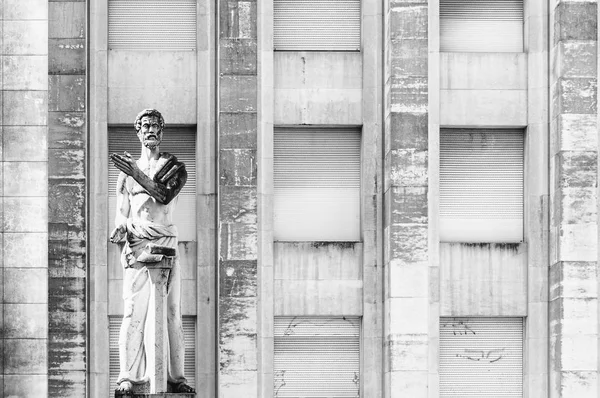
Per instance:
[[[219,2],[219,397],[257,396],[257,4]]]

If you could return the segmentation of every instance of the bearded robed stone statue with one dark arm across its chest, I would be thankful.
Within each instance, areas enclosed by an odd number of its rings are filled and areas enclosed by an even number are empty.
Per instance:
[[[124,317],[119,335],[120,373],[116,392],[129,395],[134,384],[149,381],[145,349],[147,344],[153,344],[148,342],[149,336],[145,333],[153,294],[149,268],[151,264],[169,259],[172,268],[165,278],[166,375],[170,391],[194,393],[194,389],[186,384],[183,372],[181,270],[177,258],[177,228],[172,222],[177,194],[186,183],[187,172],[175,156],[159,151],[164,129],[160,112],[143,110],[134,127],[142,144],[140,158],[136,161],[127,152],[110,156],[121,171],[116,187],[116,227],[110,240],[125,243],[121,254]]]

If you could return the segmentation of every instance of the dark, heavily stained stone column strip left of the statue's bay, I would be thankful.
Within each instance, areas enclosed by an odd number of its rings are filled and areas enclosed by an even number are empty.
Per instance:
[[[86,3],[49,2],[48,394],[86,394]]]

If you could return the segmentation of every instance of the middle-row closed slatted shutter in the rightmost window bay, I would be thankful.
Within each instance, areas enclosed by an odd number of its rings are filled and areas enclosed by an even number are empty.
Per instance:
[[[523,146],[523,130],[441,130],[441,241],[523,240]]]

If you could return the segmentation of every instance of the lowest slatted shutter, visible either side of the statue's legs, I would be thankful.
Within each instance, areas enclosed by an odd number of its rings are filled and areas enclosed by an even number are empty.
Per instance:
[[[111,388],[117,385],[119,377],[119,331],[123,318],[108,318],[109,335],[109,379]],[[184,372],[190,386],[196,385],[196,317],[184,316],[182,319],[183,337],[185,341]]]

